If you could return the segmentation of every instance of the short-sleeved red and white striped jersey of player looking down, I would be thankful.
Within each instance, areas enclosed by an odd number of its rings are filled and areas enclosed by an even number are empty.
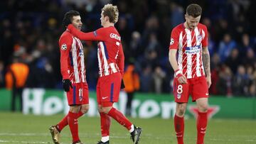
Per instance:
[[[178,70],[191,79],[205,75],[202,62],[202,48],[208,46],[208,31],[206,26],[198,26],[190,30],[184,23],[179,24],[171,31],[169,49],[177,50]]]

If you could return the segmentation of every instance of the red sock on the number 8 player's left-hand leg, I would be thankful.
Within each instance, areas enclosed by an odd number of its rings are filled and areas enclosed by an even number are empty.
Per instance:
[[[174,127],[176,131],[176,137],[178,144],[183,144],[183,134],[184,134],[184,117],[174,116]]]

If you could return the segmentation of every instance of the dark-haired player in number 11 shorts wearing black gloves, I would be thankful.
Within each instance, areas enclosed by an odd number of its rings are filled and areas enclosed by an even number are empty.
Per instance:
[[[82,28],[80,13],[68,11],[63,18],[63,26],[72,24],[78,31]],[[66,30],[60,36],[60,70],[63,77],[63,89],[67,92],[70,110],[57,125],[50,126],[53,143],[60,143],[60,131],[70,127],[73,144],[81,144],[78,136],[78,118],[89,109],[88,86],[85,77],[85,62],[82,43]]]

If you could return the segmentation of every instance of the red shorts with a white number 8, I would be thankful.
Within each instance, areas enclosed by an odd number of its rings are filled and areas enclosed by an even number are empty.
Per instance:
[[[192,101],[199,98],[208,98],[208,84],[206,77],[195,77],[187,79],[187,84],[179,84],[178,79],[174,78],[174,98],[177,103],[187,103],[188,96],[191,94]]]

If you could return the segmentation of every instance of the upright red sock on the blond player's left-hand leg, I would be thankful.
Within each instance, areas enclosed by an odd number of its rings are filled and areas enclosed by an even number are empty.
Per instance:
[[[110,124],[111,117],[107,116],[105,113],[100,113],[100,127],[102,132],[102,137],[110,135]]]

